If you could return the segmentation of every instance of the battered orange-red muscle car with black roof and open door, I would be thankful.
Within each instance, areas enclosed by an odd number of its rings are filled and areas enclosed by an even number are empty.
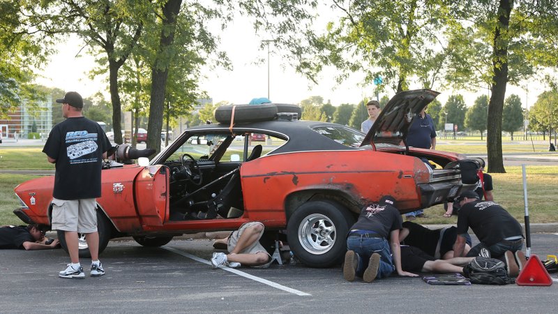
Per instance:
[[[96,199],[99,251],[114,237],[163,246],[180,234],[261,221],[266,231],[286,230],[291,251],[304,264],[339,264],[361,209],[382,196],[395,197],[405,214],[476,188],[478,167],[466,171],[463,165],[472,161],[465,155],[405,145],[412,120],[437,95],[427,89],[395,95],[367,135],[297,120],[296,105],[218,107],[218,124],[188,128],[151,161],[105,163],[103,195]],[[235,141],[250,133],[272,137],[274,145]],[[128,150],[121,145],[116,151]],[[54,177],[17,186],[14,213],[48,229],[52,186]],[[58,237],[66,248],[65,233]],[[80,255],[88,254],[80,234]]]

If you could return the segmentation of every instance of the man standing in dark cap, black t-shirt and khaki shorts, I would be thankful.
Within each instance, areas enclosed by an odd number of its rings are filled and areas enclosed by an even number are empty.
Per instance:
[[[52,229],[63,230],[71,263],[62,278],[84,278],[77,232],[85,234],[91,253],[91,276],[105,274],[99,262],[96,197],[100,197],[100,172],[111,144],[99,124],[82,115],[83,99],[75,91],[56,99],[66,120],[56,124],[43,153],[56,165],[52,196]],[[79,218],[78,218],[79,217]]]

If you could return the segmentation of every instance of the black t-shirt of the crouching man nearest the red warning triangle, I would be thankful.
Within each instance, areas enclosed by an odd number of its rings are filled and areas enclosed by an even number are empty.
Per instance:
[[[458,214],[458,234],[466,233],[469,227],[485,246],[523,235],[518,220],[495,202],[474,201],[463,205]]]

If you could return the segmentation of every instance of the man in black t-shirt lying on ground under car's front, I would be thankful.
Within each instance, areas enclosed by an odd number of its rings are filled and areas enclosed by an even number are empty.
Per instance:
[[[45,232],[35,224],[27,227],[24,225],[0,227],[0,248],[21,248],[27,251],[45,250],[56,248],[59,244],[58,240],[52,241],[51,244],[45,244],[46,241]]]

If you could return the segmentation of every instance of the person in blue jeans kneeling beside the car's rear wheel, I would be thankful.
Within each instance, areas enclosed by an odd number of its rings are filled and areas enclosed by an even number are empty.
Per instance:
[[[401,269],[399,230],[402,218],[393,204],[395,199],[391,195],[382,197],[378,204],[364,207],[352,225],[343,264],[343,276],[347,281],[359,276],[371,283],[375,278],[390,276],[393,271],[399,276],[418,276]]]

